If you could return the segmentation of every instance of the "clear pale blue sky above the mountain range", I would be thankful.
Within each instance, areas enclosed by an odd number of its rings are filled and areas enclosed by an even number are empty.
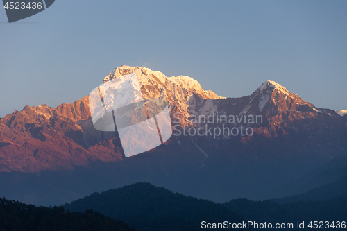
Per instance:
[[[187,75],[220,96],[274,80],[347,110],[347,1],[56,0],[8,24],[0,8],[0,117],[87,96],[115,67]]]

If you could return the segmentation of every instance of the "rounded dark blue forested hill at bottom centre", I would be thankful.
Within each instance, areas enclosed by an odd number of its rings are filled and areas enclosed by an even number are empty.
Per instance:
[[[201,230],[201,222],[246,222],[226,207],[198,200],[148,183],[137,183],[120,189],[95,193],[64,205],[70,211],[93,209],[117,217],[137,230]]]

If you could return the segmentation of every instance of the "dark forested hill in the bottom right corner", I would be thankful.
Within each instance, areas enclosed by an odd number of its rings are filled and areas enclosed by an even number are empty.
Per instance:
[[[269,200],[237,199],[223,205],[242,214],[248,221],[255,223],[266,221],[271,223],[273,228],[276,223],[279,223],[285,224],[285,228],[287,224],[293,224],[293,228],[287,228],[287,230],[310,230],[316,226],[314,221],[318,227],[323,228],[325,225],[325,230],[346,228],[346,197],[326,201],[300,201],[284,205]],[[298,228],[298,223],[304,223],[303,228]],[[312,228],[309,225],[312,225]]]

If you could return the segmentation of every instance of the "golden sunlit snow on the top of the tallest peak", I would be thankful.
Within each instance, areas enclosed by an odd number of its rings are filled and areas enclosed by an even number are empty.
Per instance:
[[[189,118],[191,114],[197,114],[199,111],[202,114],[212,114],[217,110],[217,105],[212,100],[225,99],[210,90],[204,90],[198,81],[189,76],[167,77],[160,71],[152,71],[146,67],[117,67],[104,78],[103,83],[134,72],[144,99],[167,97],[169,108],[180,108],[180,113],[185,118]],[[208,100],[203,105],[197,103],[193,97],[194,94]]]

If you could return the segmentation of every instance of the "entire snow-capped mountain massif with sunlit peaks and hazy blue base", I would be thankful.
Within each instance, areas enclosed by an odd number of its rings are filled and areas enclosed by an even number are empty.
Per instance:
[[[273,81],[250,96],[223,98],[187,76],[122,66],[103,83],[133,72],[144,99],[167,96],[174,133],[169,141],[124,158],[117,132],[94,129],[88,97],[57,108],[26,106],[0,120],[0,194],[58,205],[94,191],[151,182],[220,203],[264,200],[320,186],[289,187],[346,156],[346,119]]]

